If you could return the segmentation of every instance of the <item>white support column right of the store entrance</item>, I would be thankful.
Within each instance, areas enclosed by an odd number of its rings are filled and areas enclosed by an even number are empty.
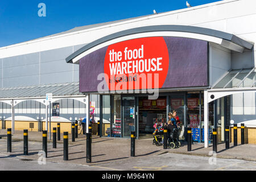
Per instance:
[[[209,104],[207,90],[204,91],[204,147],[209,147]]]

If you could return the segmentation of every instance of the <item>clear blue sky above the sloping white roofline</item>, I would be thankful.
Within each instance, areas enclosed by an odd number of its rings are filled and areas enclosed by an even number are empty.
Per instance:
[[[192,6],[220,0],[189,0]],[[0,47],[25,42],[88,24],[109,22],[187,8],[185,0],[87,1],[87,0],[2,0],[0,1]],[[46,17],[39,17],[39,3]]]

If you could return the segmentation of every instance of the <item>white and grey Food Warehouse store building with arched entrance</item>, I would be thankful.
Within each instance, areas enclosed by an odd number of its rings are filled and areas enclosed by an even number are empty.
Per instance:
[[[64,119],[59,121],[70,123],[70,118],[85,114],[88,118],[90,107],[86,106],[93,103],[94,118],[102,121],[104,136],[129,137],[130,131],[135,130],[138,139],[145,137],[152,134],[156,119],[166,122],[168,113],[177,110],[184,138],[187,127],[192,127],[193,140],[204,142],[205,147],[211,140],[211,129],[218,129],[218,141],[223,142],[225,126],[233,127],[233,123],[245,123],[246,142],[256,143],[253,5],[253,0],[219,1],[76,27],[0,48],[2,90],[11,86],[35,86],[41,90],[40,86],[73,83],[71,88],[77,88],[76,92],[68,92],[63,86],[61,93],[52,90],[53,98],[79,98],[84,110],[76,114],[75,110],[81,107],[73,101],[67,115],[60,113]],[[32,61],[33,66],[26,65]],[[22,65],[17,69],[24,71],[36,67],[39,72],[31,73],[35,79],[28,80],[26,71],[21,81],[6,77],[6,64],[11,68],[18,63]],[[48,90],[38,90],[36,95],[25,92],[28,95],[16,96],[12,92],[1,97],[1,102],[9,104],[6,117],[11,117],[16,100],[42,99],[37,102],[43,104]],[[39,110],[43,112],[45,108]],[[61,110],[64,106],[60,106]],[[13,111],[13,123],[18,122],[15,115]],[[30,118],[37,120],[36,114]]]

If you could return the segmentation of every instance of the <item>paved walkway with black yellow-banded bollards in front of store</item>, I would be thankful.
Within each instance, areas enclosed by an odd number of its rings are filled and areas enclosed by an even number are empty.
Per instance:
[[[11,154],[7,153],[7,138],[6,130],[0,130],[0,154],[6,156],[20,156],[26,159],[38,160],[38,152],[42,150],[42,132],[28,133],[28,156],[23,155],[23,131],[15,131],[12,137]],[[48,135],[49,138],[49,135]],[[52,140],[48,139],[48,158],[47,161],[63,162],[63,139],[57,141],[57,148],[52,148]],[[180,148],[164,150],[163,146],[152,145],[152,138],[136,140],[135,158],[143,158],[145,156],[159,156],[166,153],[196,155],[196,156],[212,156],[209,152],[212,151],[212,145],[209,148],[204,148],[203,143],[193,144],[192,151],[187,151],[187,143],[183,142]],[[256,161],[256,145],[243,144],[234,147],[230,143],[230,149],[225,150],[225,144],[218,144],[217,158],[224,159],[242,159],[248,161]],[[130,139],[127,138],[109,138],[109,137],[92,137],[92,163],[89,165],[104,164],[115,162],[118,160],[129,159],[130,157]],[[133,158],[134,159],[134,158]],[[69,160],[68,163],[87,164],[86,163],[86,137],[80,136],[76,142],[71,141],[69,134]]]

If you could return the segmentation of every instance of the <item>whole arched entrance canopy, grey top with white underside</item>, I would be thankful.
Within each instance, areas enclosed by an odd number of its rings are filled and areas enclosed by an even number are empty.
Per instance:
[[[72,53],[72,55],[67,57],[66,61],[67,63],[79,64],[79,60],[82,57],[102,47],[124,40],[150,36],[175,36],[205,40],[207,42],[217,43],[222,47],[236,52],[243,52],[244,49],[251,50],[254,46],[253,43],[238,38],[236,35],[209,28],[180,25],[146,26],[116,32],[98,39]]]

